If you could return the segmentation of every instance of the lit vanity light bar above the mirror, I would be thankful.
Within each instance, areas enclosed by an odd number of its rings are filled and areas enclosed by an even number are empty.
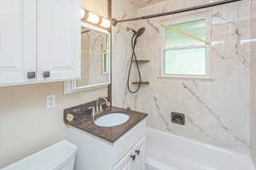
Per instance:
[[[91,13],[90,11],[81,8],[81,20],[88,22],[95,26],[101,26],[102,28],[109,28],[111,26],[110,20],[103,18],[97,14]]]

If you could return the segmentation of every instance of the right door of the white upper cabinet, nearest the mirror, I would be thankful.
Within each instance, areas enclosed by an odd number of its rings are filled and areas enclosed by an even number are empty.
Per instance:
[[[38,0],[39,82],[80,77],[80,0]]]

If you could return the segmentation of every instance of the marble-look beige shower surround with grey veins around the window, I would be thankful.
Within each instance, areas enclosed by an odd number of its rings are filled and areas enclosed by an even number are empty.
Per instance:
[[[113,0],[113,17],[127,19],[187,8],[207,1],[166,0],[135,8],[129,0]],[[212,79],[160,78],[160,22],[207,12],[212,16]],[[113,28],[113,105],[149,113],[148,126],[190,139],[249,154],[250,1],[230,3],[184,14],[119,24]],[[126,27],[146,27],[138,39],[143,80],[139,93],[126,88],[131,35]],[[134,68],[134,67],[133,67]],[[135,75],[133,75],[133,78]],[[186,116],[184,126],[171,122],[171,112]]]

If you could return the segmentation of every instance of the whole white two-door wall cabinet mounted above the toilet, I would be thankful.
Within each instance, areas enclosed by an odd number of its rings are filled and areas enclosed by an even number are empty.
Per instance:
[[[79,0],[0,3],[0,87],[80,77]]]

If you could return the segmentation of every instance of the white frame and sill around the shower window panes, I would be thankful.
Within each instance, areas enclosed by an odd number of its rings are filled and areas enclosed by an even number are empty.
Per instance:
[[[212,17],[209,13],[203,13],[203,14],[190,14],[183,17],[177,17],[172,20],[165,20],[161,22],[161,25],[164,26],[170,26],[174,24],[179,24],[183,22],[189,22],[193,20],[206,20],[206,41],[209,42],[209,44],[202,44],[202,45],[192,45],[192,46],[184,46],[184,47],[173,47],[173,48],[165,48],[165,40],[166,40],[166,31],[165,27],[161,26],[160,29],[160,50],[161,50],[161,56],[160,56],[160,78],[190,78],[190,79],[212,79],[212,54],[211,54],[211,23],[212,23]],[[189,32],[188,32],[189,33]],[[165,74],[165,50],[166,49],[189,49],[189,48],[206,48],[206,75],[185,75],[185,74]]]

